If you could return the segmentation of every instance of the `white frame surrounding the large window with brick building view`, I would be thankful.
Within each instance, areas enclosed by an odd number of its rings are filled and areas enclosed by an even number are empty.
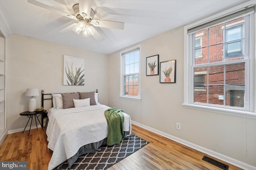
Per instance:
[[[197,109],[197,110],[202,110],[202,111],[209,111],[209,112],[214,112],[214,113],[222,113],[222,114],[227,114],[227,115],[235,115],[239,117],[249,117],[252,119],[256,119],[256,100],[254,99],[254,95],[250,95],[248,97],[248,101],[245,101],[245,104],[248,106],[246,109],[244,108],[230,108],[230,107],[218,107],[218,106],[212,106],[212,105],[197,105],[193,103],[193,97],[194,97],[194,87],[193,87],[193,71],[192,71],[192,46],[190,43],[192,43],[192,36],[188,35],[188,30],[197,26],[200,26],[201,24],[205,24],[209,21],[216,20],[217,18],[221,18],[223,16],[227,16],[228,14],[234,13],[235,11],[241,10],[242,8],[246,8],[248,6],[255,5],[253,2],[249,1],[244,4],[240,4],[239,6],[235,6],[233,8],[230,8],[228,10],[219,12],[218,14],[212,15],[210,17],[204,18],[202,20],[199,20],[197,22],[194,22],[192,24],[189,24],[187,26],[184,26],[184,102],[182,105],[185,108],[189,109]],[[250,39],[249,39],[249,44],[250,44],[250,49],[248,51],[248,54],[250,56],[250,59],[244,59],[244,60],[249,60],[249,62],[246,62],[247,68],[250,68],[249,73],[246,73],[245,76],[248,76],[245,78],[246,84],[248,85],[247,87],[249,88],[249,93],[253,93],[256,91],[256,85],[255,85],[255,27],[256,27],[256,22],[255,22],[255,12],[253,14],[250,14]],[[248,44],[245,44],[248,45]],[[243,49],[242,49],[243,50]],[[232,61],[231,61],[232,63]]]

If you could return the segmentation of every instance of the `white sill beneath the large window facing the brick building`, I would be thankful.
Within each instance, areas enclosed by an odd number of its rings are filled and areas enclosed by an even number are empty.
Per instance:
[[[194,104],[182,104],[184,108],[188,109],[197,109],[201,111],[209,111],[214,113],[222,113],[226,115],[233,115],[239,117],[246,117],[250,119],[256,119],[256,113],[250,111],[242,111],[242,110],[233,110],[233,109],[225,109],[220,107],[211,107],[211,106],[204,106],[204,105],[194,105]]]

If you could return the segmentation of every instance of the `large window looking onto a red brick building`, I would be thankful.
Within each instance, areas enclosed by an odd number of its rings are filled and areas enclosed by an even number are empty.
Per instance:
[[[185,27],[184,106],[255,112],[254,6],[217,18]]]

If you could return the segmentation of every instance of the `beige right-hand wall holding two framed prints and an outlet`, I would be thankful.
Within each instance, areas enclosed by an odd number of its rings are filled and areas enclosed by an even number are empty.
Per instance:
[[[142,101],[118,97],[120,51],[117,51],[108,60],[108,105],[123,109],[138,124],[256,166],[256,119],[182,106],[184,28],[170,30],[140,44]],[[160,62],[176,59],[176,83],[159,83],[158,75],[146,76],[146,57],[156,54]],[[176,130],[176,122],[181,124],[181,130]]]

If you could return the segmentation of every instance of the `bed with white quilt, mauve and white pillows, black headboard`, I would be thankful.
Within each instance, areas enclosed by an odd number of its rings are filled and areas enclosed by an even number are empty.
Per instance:
[[[98,91],[80,93],[79,99],[77,93],[44,94],[42,91],[42,106],[44,100],[52,100],[52,108],[48,111],[46,122],[48,148],[53,151],[48,170],[56,168],[66,160],[71,167],[78,156],[97,152],[101,149],[100,146],[107,142],[108,123],[104,112],[110,107],[98,103]],[[85,93],[90,93],[90,101],[83,96]],[[51,97],[45,98],[44,95]],[[73,100],[74,97],[76,99]],[[75,107],[72,107],[71,101],[71,106],[65,105],[67,99],[72,99]],[[63,103],[60,104],[61,102]],[[131,133],[131,119],[126,113],[123,115],[124,136],[128,136]]]

